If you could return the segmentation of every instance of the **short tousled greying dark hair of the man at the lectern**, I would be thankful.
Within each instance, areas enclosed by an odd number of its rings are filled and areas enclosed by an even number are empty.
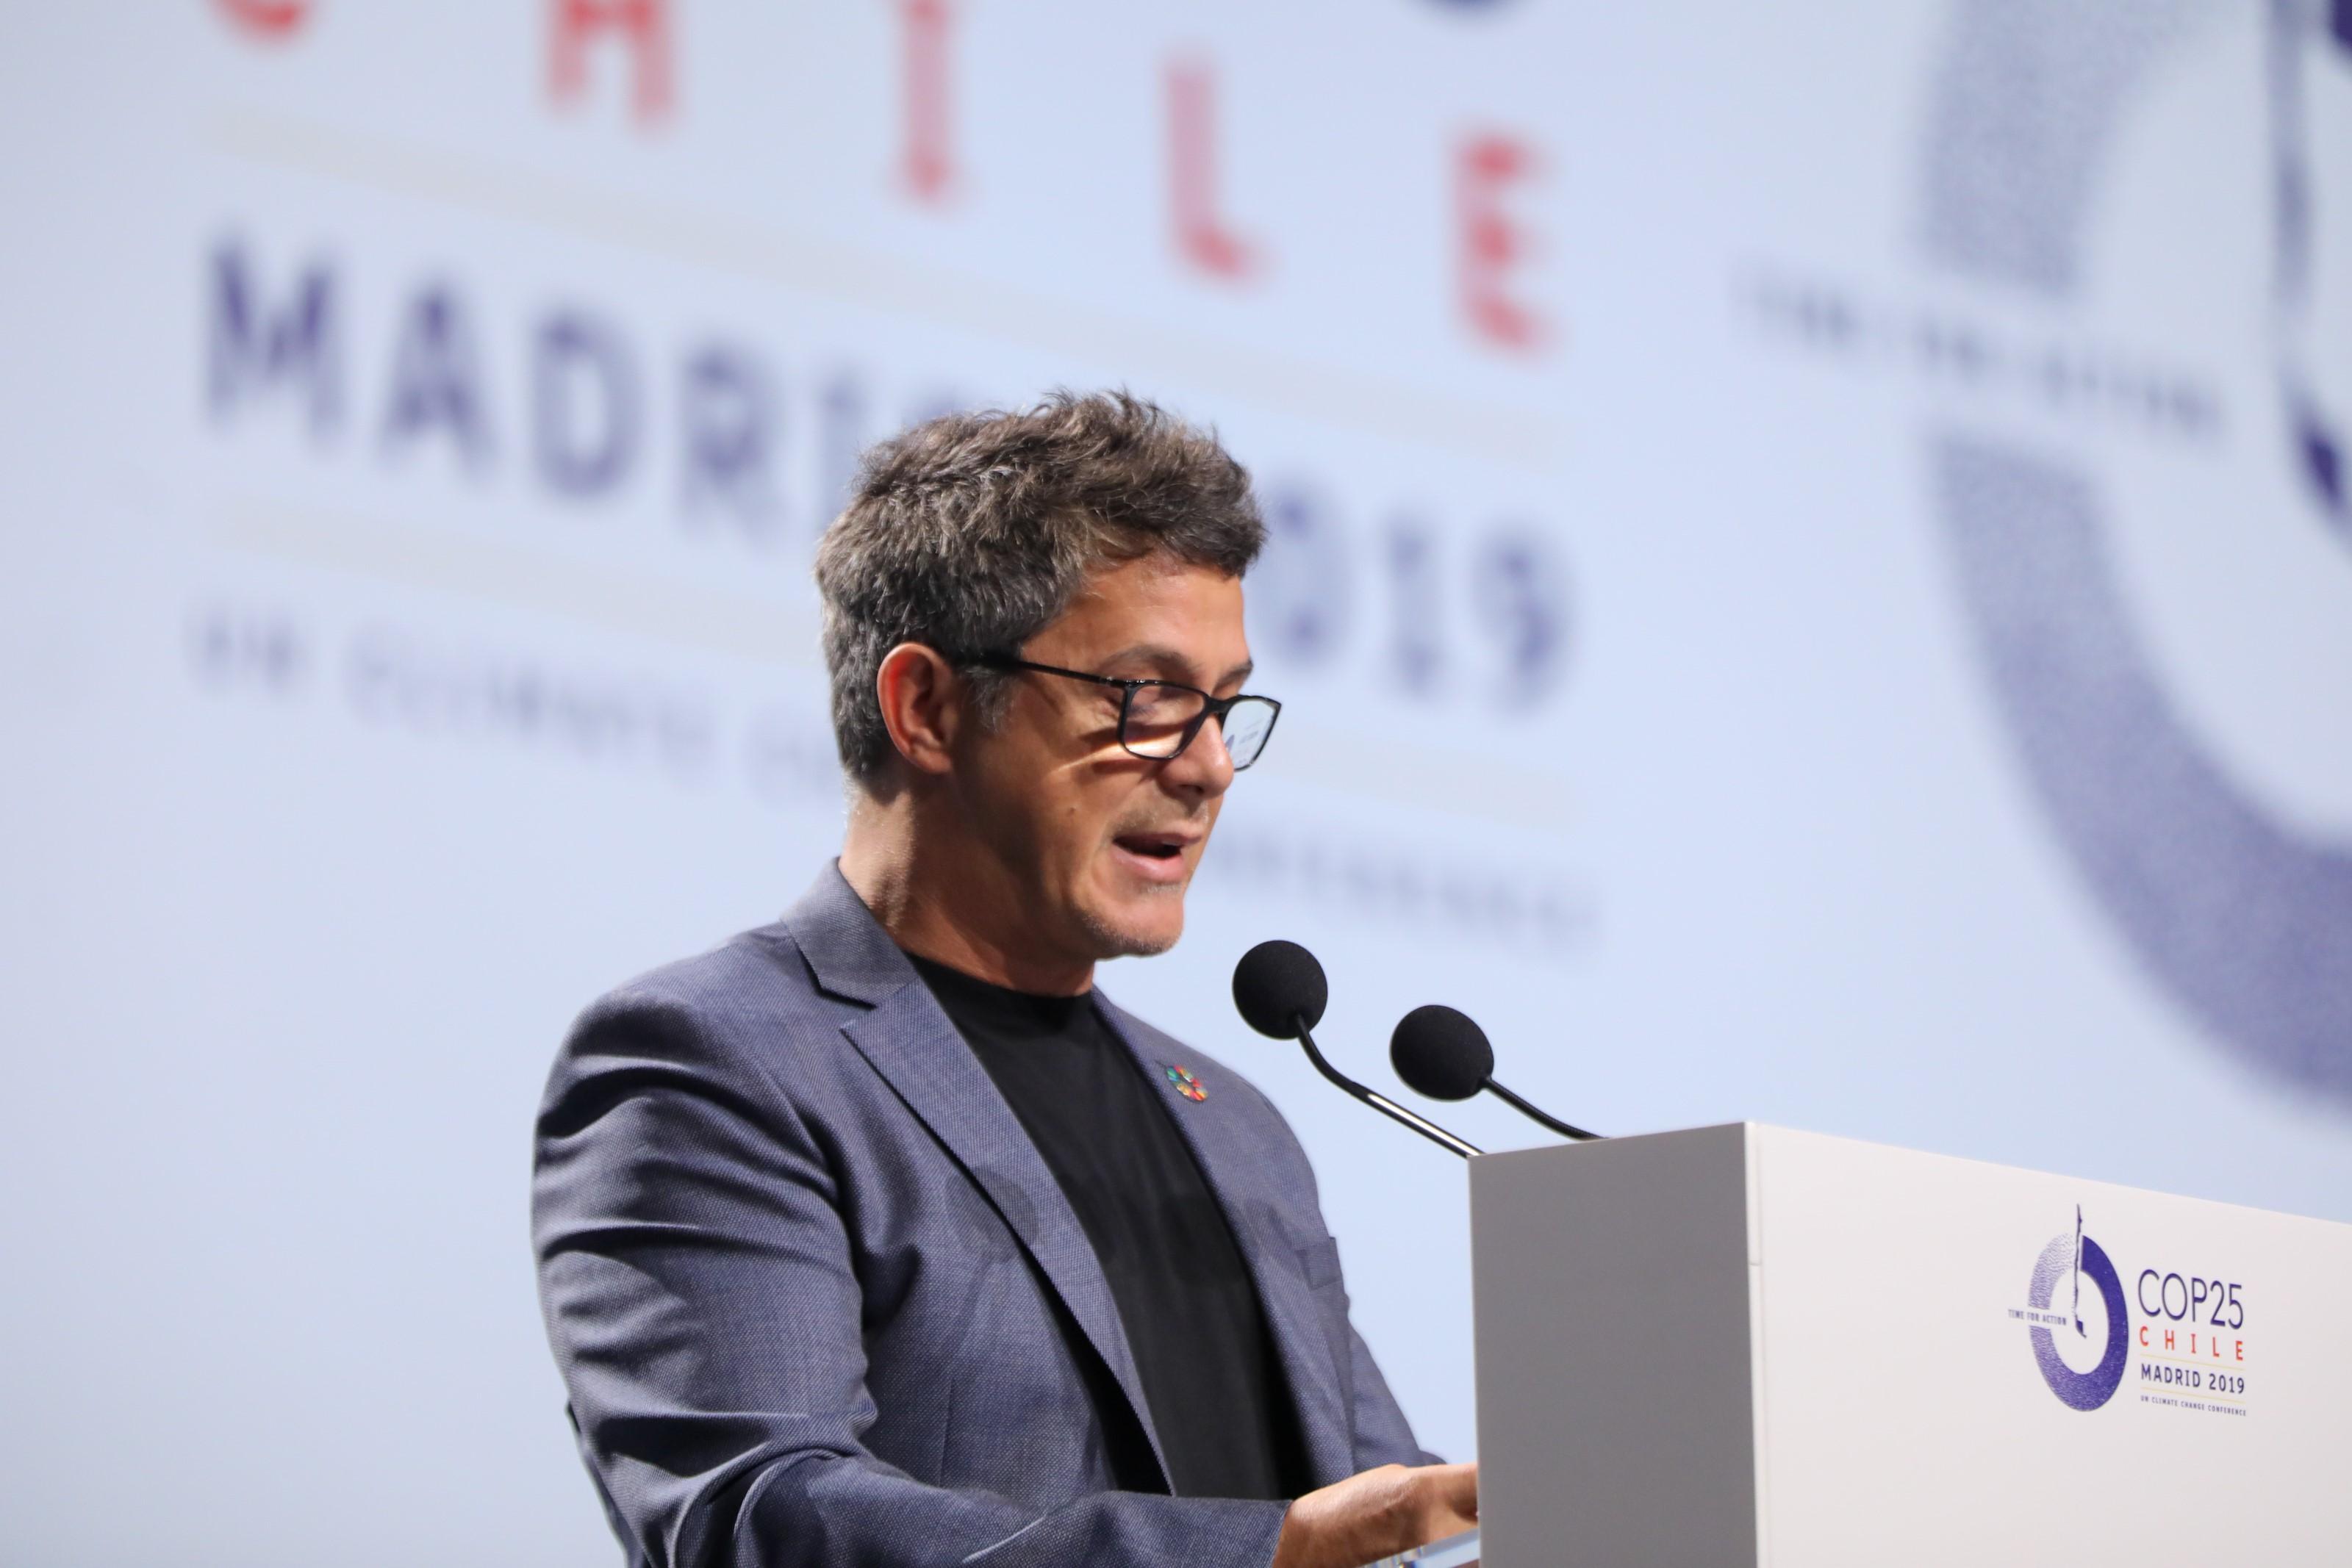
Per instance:
[[[896,755],[875,677],[901,642],[1011,654],[1098,567],[1167,552],[1242,576],[1263,545],[1249,473],[1216,435],[1129,393],[943,414],[877,442],[816,545],[842,766],[866,783]],[[1000,682],[969,675],[990,717]]]

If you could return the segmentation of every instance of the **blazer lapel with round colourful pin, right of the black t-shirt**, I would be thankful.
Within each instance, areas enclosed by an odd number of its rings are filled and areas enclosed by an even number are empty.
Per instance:
[[[1225,1225],[1232,1229],[1232,1241],[1242,1248],[1249,1276],[1258,1286],[1258,1305],[1265,1309],[1265,1324],[1275,1335],[1275,1354],[1282,1356],[1282,1373],[1289,1378],[1291,1399],[1298,1403],[1298,1429],[1308,1446],[1308,1465],[1315,1472],[1315,1483],[1331,1486],[1352,1476],[1355,1427],[1348,1415],[1338,1363],[1331,1359],[1331,1335],[1324,1333],[1322,1309],[1315,1305],[1315,1291],[1308,1286],[1305,1267],[1291,1239],[1279,1234],[1272,1222],[1254,1218],[1254,1211],[1263,1211],[1265,1197],[1270,1197],[1251,1182],[1265,1168],[1265,1152],[1235,1117],[1240,1095],[1218,1098],[1211,1074],[1202,1084],[1211,1091],[1209,1098],[1197,1103],[1178,1098],[1167,1070],[1185,1065],[1183,1048],[1141,1018],[1112,1006],[1110,997],[1096,992],[1096,1001],[1103,1006],[1103,1018],[1110,1020],[1112,1032],[1117,1032],[1127,1051],[1136,1058],[1143,1077],[1160,1088],[1169,1117],[1185,1143],[1192,1145],[1192,1159],[1200,1164],[1209,1192],[1216,1194],[1218,1208],[1225,1211]],[[1155,1056],[1155,1051],[1174,1056]]]

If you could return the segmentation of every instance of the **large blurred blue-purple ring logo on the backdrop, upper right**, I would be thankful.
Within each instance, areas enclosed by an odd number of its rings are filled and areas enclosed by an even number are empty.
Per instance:
[[[2274,263],[2298,489],[2352,541],[2343,409],[2328,409],[2319,357],[2303,348],[2317,292],[2343,287],[2345,270],[2312,244],[2305,167],[2321,143],[2298,96],[2305,75],[2352,59],[2352,2],[2331,5],[2326,35],[2314,7],[2272,12]],[[1926,136],[1929,256],[1957,277],[2070,303],[2117,127],[2194,33],[2187,12],[1957,5]],[[2352,1107],[2352,844],[2277,811],[2171,689],[2110,543],[2117,501],[2091,454],[1952,421],[1933,437],[1933,487],[1994,705],[2089,893],[2216,1044]]]

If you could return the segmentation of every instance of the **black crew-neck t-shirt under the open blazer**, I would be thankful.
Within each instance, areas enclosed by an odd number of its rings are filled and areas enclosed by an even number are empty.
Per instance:
[[[1310,1490],[1298,1413],[1225,1213],[1094,997],[1033,997],[929,959],[915,971],[1094,1244],[1174,1493]],[[1105,1413],[1105,1432],[1117,1427]]]

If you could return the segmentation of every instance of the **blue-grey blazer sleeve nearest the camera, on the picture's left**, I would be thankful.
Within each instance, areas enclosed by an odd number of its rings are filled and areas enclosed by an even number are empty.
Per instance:
[[[1047,1514],[868,1453],[844,1194],[689,1001],[616,994],[539,1114],[532,1232],[581,1448],[630,1561],[1263,1566],[1284,1505],[1096,1493]]]

